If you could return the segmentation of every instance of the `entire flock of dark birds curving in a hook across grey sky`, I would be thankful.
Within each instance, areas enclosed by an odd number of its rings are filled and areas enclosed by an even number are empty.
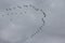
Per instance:
[[[26,9],[29,9],[29,8],[31,8],[31,9],[34,9],[36,12],[38,12],[38,11],[40,11],[41,13],[42,13],[42,15],[43,15],[43,17],[41,18],[41,20],[42,20],[42,25],[39,27],[39,29],[37,29],[37,31],[34,33],[34,34],[31,34],[30,35],[30,39],[31,38],[34,38],[37,33],[39,33],[41,30],[42,30],[42,27],[44,26],[44,17],[47,16],[47,14],[44,13],[44,11],[42,10],[42,9],[37,9],[36,6],[34,6],[32,4],[29,4],[29,5],[23,5],[23,6],[21,6],[21,5],[16,5],[16,6],[13,6],[13,8],[9,8],[9,9],[5,9],[4,11],[6,12],[6,14],[0,14],[2,17],[4,17],[4,16],[10,16],[10,22],[12,22],[13,20],[13,15],[14,16],[23,16],[23,15],[25,15],[26,13],[27,13],[27,11],[24,11],[23,12],[23,8],[25,8],[25,10]],[[20,11],[17,11],[17,10],[20,10]],[[15,12],[15,11],[17,11],[17,12]]]

